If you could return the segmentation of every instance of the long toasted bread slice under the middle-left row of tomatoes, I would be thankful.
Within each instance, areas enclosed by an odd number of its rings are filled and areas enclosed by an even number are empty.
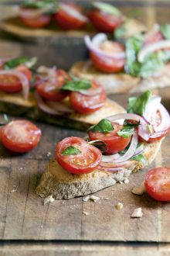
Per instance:
[[[69,99],[65,101],[69,105]],[[52,123],[60,126],[71,127],[78,130],[87,130],[93,124],[96,124],[107,116],[111,116],[120,112],[125,112],[117,102],[107,99],[105,105],[88,115],[72,113],[69,115],[56,116],[42,112],[37,104],[34,95],[30,93],[29,99],[23,99],[21,94],[6,94],[0,92],[0,112],[14,116],[26,116],[30,119],[41,120],[46,123]]]

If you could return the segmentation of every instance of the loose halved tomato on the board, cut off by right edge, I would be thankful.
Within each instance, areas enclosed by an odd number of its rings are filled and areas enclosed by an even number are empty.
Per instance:
[[[154,199],[170,202],[170,168],[154,168],[148,171],[145,188]]]

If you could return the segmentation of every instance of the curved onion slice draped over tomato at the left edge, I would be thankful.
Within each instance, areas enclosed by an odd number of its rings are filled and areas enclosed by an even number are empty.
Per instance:
[[[19,81],[22,84],[23,97],[24,97],[24,99],[29,98],[29,80],[26,77],[26,74],[23,74],[22,72],[17,71],[15,69],[3,70],[3,71],[0,71],[0,74],[14,75],[16,78],[19,78]]]

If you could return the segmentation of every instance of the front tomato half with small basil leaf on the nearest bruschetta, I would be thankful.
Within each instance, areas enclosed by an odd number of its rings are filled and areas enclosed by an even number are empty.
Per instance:
[[[62,155],[66,147],[78,148],[81,153],[76,155]],[[100,164],[101,151],[79,137],[67,137],[56,145],[56,161],[66,170],[73,174],[89,173],[94,171]]]

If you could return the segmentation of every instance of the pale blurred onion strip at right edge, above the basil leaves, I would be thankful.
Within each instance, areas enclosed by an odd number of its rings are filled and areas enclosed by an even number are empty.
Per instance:
[[[142,47],[138,53],[138,61],[143,62],[148,54],[167,48],[170,48],[170,40],[160,40],[158,42],[145,45],[145,47]]]

